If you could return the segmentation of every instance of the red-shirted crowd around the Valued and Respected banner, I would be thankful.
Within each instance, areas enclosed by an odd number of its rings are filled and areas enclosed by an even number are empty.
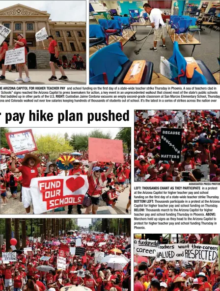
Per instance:
[[[186,243],[210,244],[216,235],[186,235]],[[143,259],[143,257],[141,257]],[[215,263],[198,261],[156,260],[151,258],[134,262],[134,291],[219,291],[220,269],[218,258]]]

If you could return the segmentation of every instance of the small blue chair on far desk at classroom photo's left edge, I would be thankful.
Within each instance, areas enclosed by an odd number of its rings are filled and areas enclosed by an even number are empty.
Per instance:
[[[89,48],[95,47],[97,50],[100,46],[107,46],[107,38],[104,28],[100,25],[89,25]]]

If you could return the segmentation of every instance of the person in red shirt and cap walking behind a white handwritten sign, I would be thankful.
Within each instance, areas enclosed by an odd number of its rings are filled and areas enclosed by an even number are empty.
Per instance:
[[[27,62],[27,41],[26,39],[23,37],[22,33],[19,33],[17,35],[17,39],[14,39],[15,42],[15,49],[20,49],[25,47],[25,62],[18,64],[18,70],[19,70],[19,78],[15,79],[15,81],[23,81],[23,82],[30,82],[30,78],[29,78],[29,72],[28,72],[28,68],[26,65]],[[24,68],[25,74],[26,74],[26,78],[23,80],[22,79],[22,67]]]

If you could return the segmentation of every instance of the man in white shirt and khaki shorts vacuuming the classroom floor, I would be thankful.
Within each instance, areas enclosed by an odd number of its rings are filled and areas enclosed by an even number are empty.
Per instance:
[[[161,48],[166,49],[165,46],[165,24],[162,16],[165,16],[163,12],[158,8],[151,8],[147,3],[143,5],[143,9],[149,14],[151,26],[154,29],[154,46],[150,51],[157,52],[157,42],[162,39],[163,45]]]

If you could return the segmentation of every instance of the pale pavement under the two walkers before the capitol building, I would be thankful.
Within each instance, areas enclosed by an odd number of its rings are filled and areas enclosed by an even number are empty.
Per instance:
[[[56,78],[59,79],[61,77],[61,73],[58,69],[56,69]],[[29,77],[31,79],[30,82],[16,82],[15,79],[19,78],[18,72],[8,72],[5,73],[5,80],[0,80],[0,84],[7,84],[7,85],[31,85],[31,84],[85,84],[86,83],[86,71],[79,71],[79,70],[72,70],[66,69],[64,70],[66,76],[68,77],[68,81],[49,81],[48,79],[51,78],[52,73],[50,69],[30,69],[29,70]],[[22,78],[25,79],[26,75],[25,72],[22,74]]]

